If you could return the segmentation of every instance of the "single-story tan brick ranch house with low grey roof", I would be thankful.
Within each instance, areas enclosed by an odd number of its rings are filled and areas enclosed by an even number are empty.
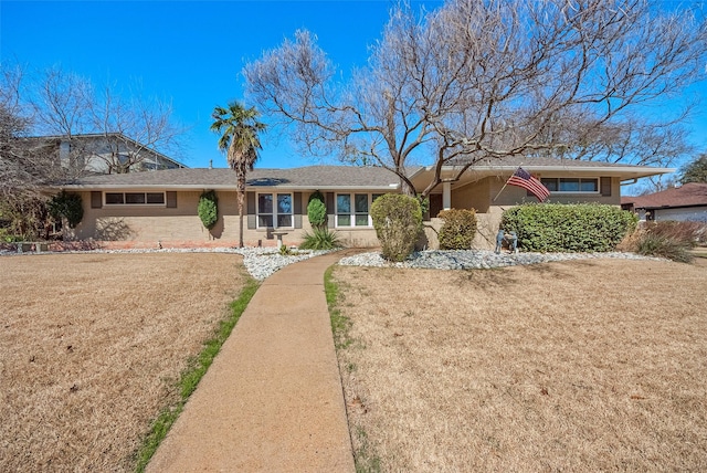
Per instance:
[[[478,162],[456,182],[440,185],[430,196],[428,225],[439,229],[434,217],[445,208],[476,209],[479,235],[475,245],[494,241],[503,210],[536,199],[523,188],[504,183],[523,164],[552,190],[551,202],[601,202],[619,206],[622,181],[665,174],[672,169],[557,159],[496,159]],[[453,168],[444,168],[449,177]],[[416,189],[423,189],[432,168],[409,170]],[[205,242],[224,245],[238,242],[239,216],[235,174],[231,169],[170,169],[155,172],[91,176],[62,189],[77,192],[84,201],[84,219],[74,230],[80,240],[130,240]],[[503,189],[503,191],[502,191]],[[199,196],[215,190],[219,220],[208,231],[197,217]],[[287,232],[285,243],[302,240],[310,230],[307,219],[309,196],[325,195],[328,225],[349,245],[377,245],[370,206],[380,195],[400,192],[399,178],[378,167],[309,166],[294,169],[255,169],[246,185],[247,228],[245,243],[274,245],[273,230]],[[432,217],[432,219],[430,219]],[[434,248],[434,231],[428,230]],[[493,248],[493,245],[492,245]]]

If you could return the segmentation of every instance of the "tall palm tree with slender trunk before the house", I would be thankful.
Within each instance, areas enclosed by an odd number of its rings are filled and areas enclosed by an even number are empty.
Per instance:
[[[239,245],[243,248],[243,197],[245,196],[245,175],[252,171],[257,161],[257,151],[262,149],[257,134],[265,124],[257,120],[260,113],[255,107],[245,108],[239,102],[230,102],[228,108],[217,106],[211,114],[211,130],[221,135],[219,149],[225,151],[231,169],[235,171],[239,197]]]

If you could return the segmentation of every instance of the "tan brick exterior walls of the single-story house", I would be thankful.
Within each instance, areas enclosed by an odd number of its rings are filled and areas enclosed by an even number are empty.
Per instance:
[[[548,176],[549,177],[549,176]],[[500,216],[509,207],[535,202],[535,197],[527,196],[525,189],[507,186],[498,196],[505,180],[486,178],[481,181],[455,189],[452,193],[452,207],[457,209],[476,209],[478,232],[474,248],[494,248],[495,234],[498,231]],[[609,181],[606,181],[609,182]],[[608,204],[620,204],[620,179],[611,178],[611,196],[593,195],[552,195],[552,202],[573,203],[594,201]],[[239,244],[239,210],[235,191],[218,191],[219,220],[210,231],[207,230],[198,214],[197,207],[201,191],[178,191],[177,206],[92,206],[92,192],[78,192],[84,206],[83,221],[66,238],[73,241],[102,242],[105,248],[182,248],[182,246],[235,246]],[[94,197],[98,197],[95,195]],[[102,196],[101,196],[102,197]],[[306,202],[309,193],[302,193],[302,229],[285,230],[283,243],[297,245],[304,232],[310,231],[307,219]],[[244,202],[244,213],[247,203]],[[333,210],[329,210],[331,213]],[[425,230],[426,239],[420,246],[437,248],[435,231],[441,221],[432,219]],[[434,229],[434,230],[433,230]],[[68,230],[68,229],[66,229]],[[335,229],[341,241],[349,246],[378,246],[376,231],[366,229]],[[265,229],[249,229],[247,218],[243,219],[243,240],[249,246],[275,246],[276,239]]]

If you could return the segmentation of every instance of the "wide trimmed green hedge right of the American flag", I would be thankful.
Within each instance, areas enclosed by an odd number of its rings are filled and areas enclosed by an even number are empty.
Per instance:
[[[502,228],[518,246],[539,252],[613,251],[635,229],[637,217],[599,203],[528,203],[504,212]]]

